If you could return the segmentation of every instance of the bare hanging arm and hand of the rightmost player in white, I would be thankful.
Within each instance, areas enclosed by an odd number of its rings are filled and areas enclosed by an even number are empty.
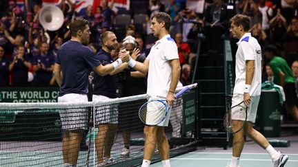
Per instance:
[[[251,85],[252,78],[255,74],[255,60],[246,60],[246,85]],[[250,104],[250,94],[244,93],[244,104]]]

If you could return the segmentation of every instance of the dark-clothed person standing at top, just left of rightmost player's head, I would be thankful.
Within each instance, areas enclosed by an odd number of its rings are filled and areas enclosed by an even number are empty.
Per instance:
[[[230,18],[227,4],[221,0],[213,0],[205,13],[206,47],[211,52],[220,52],[223,47],[221,36],[228,30]]]

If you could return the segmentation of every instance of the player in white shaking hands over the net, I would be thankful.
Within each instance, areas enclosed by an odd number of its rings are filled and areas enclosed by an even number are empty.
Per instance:
[[[170,16],[164,12],[158,12],[152,16],[150,29],[159,40],[152,46],[150,54],[143,63],[130,58],[128,65],[143,74],[148,73],[147,93],[150,96],[149,100],[163,98],[171,106],[175,100],[174,93],[181,67],[177,45],[169,35],[170,22]],[[150,165],[156,144],[161,154],[163,166],[170,166],[168,140],[163,131],[163,126],[168,126],[169,118],[170,113],[157,126],[145,126],[143,130],[146,137],[143,167]],[[148,115],[146,116],[147,119]]]

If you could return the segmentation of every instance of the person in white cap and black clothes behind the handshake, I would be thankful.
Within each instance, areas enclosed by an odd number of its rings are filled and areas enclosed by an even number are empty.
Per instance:
[[[123,39],[123,47],[130,56],[140,63],[143,63],[146,56],[141,56],[137,47],[137,41],[132,36],[126,36]],[[121,85],[121,97],[135,96],[146,93],[146,75],[135,71],[132,67],[127,67],[123,72],[119,73],[118,80]],[[139,121],[138,111],[139,106],[130,107],[130,104],[123,103],[122,107],[119,107],[119,126],[122,129],[122,137],[124,142],[124,148],[122,149],[121,156],[128,157],[130,155],[130,135],[132,129],[134,129],[135,122]]]

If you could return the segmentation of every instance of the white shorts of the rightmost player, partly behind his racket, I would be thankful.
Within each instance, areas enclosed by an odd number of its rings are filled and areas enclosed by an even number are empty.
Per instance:
[[[250,97],[250,105],[247,110],[248,115],[247,115],[246,121],[255,123],[255,120],[257,117],[257,108],[259,105],[259,98],[260,98],[260,96],[251,96]],[[234,94],[232,97],[232,107],[239,104],[240,102],[243,102],[243,99],[244,99],[243,94]],[[244,120],[242,118],[237,117],[237,109],[235,109],[235,110],[232,109],[232,120]]]

